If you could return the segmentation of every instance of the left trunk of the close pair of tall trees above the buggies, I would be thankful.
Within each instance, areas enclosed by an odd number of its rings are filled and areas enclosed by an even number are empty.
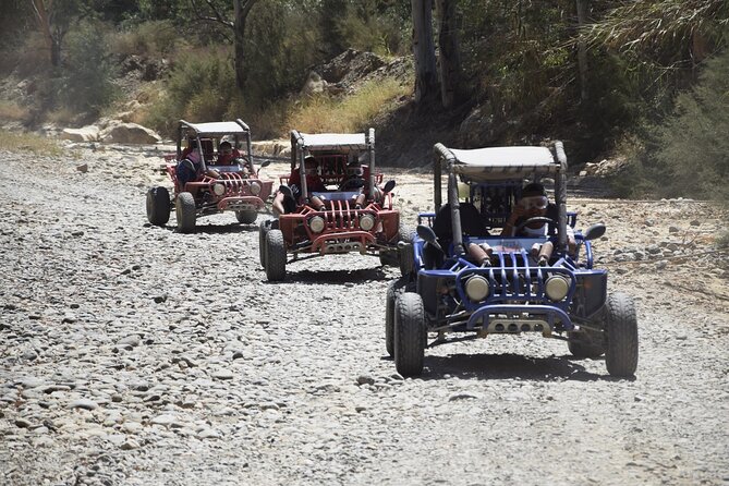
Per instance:
[[[435,97],[438,90],[433,42],[433,0],[411,0],[413,54],[415,57],[415,102]]]

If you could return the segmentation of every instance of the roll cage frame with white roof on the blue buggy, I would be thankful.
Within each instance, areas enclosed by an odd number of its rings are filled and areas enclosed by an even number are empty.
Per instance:
[[[489,147],[475,149],[448,148],[438,143],[434,146],[436,160],[433,165],[435,211],[442,203],[442,171],[448,174],[448,204],[451,211],[453,251],[463,255],[458,179],[469,183],[485,181],[513,181],[535,175],[554,175],[555,204],[557,205],[557,245],[567,252],[567,155],[561,142],[547,147]]]

